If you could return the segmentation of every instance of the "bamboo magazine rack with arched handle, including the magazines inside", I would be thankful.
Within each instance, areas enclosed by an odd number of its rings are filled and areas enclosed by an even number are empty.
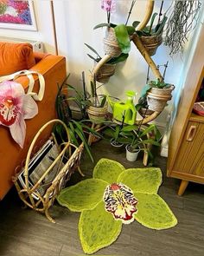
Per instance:
[[[30,159],[35,142],[42,131],[54,123],[61,123],[62,127],[65,128],[68,141],[63,145],[58,145],[54,135],[52,135]],[[45,148],[49,148],[46,149],[47,152]],[[74,170],[78,169],[82,174],[80,155],[83,148],[83,143],[80,144],[79,148],[70,143],[68,129],[63,121],[54,119],[42,126],[29,147],[24,168],[13,177],[19,197],[25,206],[37,212],[45,213],[48,220],[55,223],[49,215],[48,209],[53,205],[56,196],[65,186]],[[31,171],[33,172],[31,173]]]

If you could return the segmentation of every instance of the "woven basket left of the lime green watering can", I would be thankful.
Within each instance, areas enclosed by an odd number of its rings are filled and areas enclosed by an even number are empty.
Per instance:
[[[105,115],[108,113],[108,105],[105,104],[103,108],[89,106],[87,113],[89,119],[95,123],[105,121]]]

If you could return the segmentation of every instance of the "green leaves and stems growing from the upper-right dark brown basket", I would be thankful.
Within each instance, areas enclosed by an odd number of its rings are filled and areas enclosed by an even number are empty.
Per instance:
[[[154,25],[155,19],[156,19],[157,13],[155,12],[150,19],[150,25],[143,28],[143,30],[137,30],[136,33],[138,36],[158,36],[163,33],[163,28],[165,26],[165,23],[167,22],[168,17],[163,16],[163,19],[161,21],[158,21],[156,26]],[[139,21],[135,21],[132,23],[132,26],[136,29]]]

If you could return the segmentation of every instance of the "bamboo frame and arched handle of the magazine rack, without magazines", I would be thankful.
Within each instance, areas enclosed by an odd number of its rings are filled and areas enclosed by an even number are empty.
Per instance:
[[[35,142],[37,141],[38,137],[41,135],[42,131],[45,128],[47,128],[48,125],[54,124],[54,123],[61,123],[63,128],[65,128],[68,141],[63,143],[62,145],[63,148],[61,149],[61,147],[57,145],[57,142],[54,139],[54,144],[59,149],[59,154],[54,159],[52,164],[43,172],[43,174],[41,174],[41,177],[39,178],[39,180],[36,181],[35,184],[31,184],[29,180],[29,161],[30,161],[31,153],[35,146]],[[80,155],[83,151],[83,148],[84,148],[83,143],[80,144],[79,148],[77,148],[72,143],[70,143],[68,129],[66,124],[63,121],[54,119],[52,121],[48,121],[44,126],[42,126],[42,128],[35,135],[35,138],[29,147],[29,152],[27,154],[24,173],[23,173],[24,186],[22,185],[22,182],[20,182],[19,180],[19,176],[22,173],[18,173],[16,174],[15,177],[13,177],[13,181],[15,183],[19,197],[24,202],[25,206],[32,208],[36,212],[45,213],[48,220],[55,223],[54,219],[49,215],[48,209],[53,205],[56,196],[60,193],[61,189],[69,180],[74,170],[78,169],[80,174],[82,174],[80,171]],[[65,154],[68,154],[67,162],[63,162],[63,165],[59,167],[59,163],[61,164],[62,159],[65,158]],[[51,174],[56,164],[58,164],[58,167],[60,170],[58,171],[58,174],[54,176],[53,181],[50,181],[47,184],[46,191],[42,194],[41,193],[42,183],[43,181],[46,180],[46,178],[48,177],[48,174]]]

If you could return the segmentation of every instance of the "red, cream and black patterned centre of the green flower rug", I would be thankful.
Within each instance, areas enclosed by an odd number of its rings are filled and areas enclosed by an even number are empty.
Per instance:
[[[134,213],[137,213],[137,202],[130,187],[122,183],[113,183],[105,187],[105,210],[112,213],[115,220],[122,220],[124,224],[134,221]]]

